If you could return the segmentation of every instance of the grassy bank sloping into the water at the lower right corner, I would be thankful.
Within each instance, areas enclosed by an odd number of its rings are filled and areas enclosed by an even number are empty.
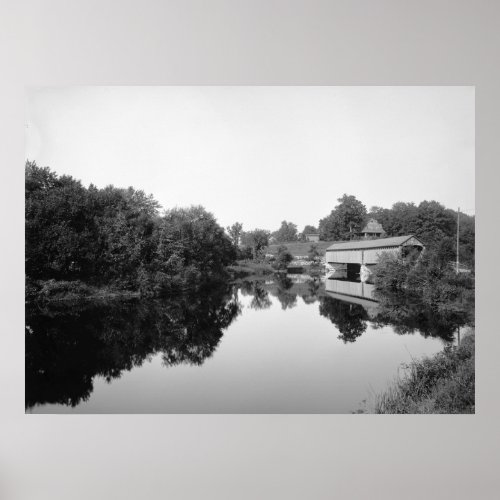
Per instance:
[[[377,398],[375,413],[474,413],[475,336],[413,361],[408,373]]]

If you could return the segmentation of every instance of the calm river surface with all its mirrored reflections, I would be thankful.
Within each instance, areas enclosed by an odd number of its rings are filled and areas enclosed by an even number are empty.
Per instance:
[[[460,315],[376,302],[344,280],[27,310],[28,413],[350,413]]]

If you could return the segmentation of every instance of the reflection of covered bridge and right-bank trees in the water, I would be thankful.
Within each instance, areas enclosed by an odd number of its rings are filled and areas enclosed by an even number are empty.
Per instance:
[[[251,307],[271,307],[269,295],[280,302],[283,310],[297,305],[301,297],[306,304],[319,302],[319,314],[338,329],[344,342],[354,342],[370,323],[374,328],[391,326],[401,335],[420,333],[451,342],[457,328],[473,322],[473,306],[454,304],[450,308],[426,306],[400,294],[380,295],[375,286],[345,278],[313,279],[305,275],[279,275],[267,281],[246,281],[245,294],[253,296]]]

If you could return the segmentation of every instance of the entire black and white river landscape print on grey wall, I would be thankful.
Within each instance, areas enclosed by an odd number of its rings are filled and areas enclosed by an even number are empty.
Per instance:
[[[473,86],[33,86],[25,412],[475,413]]]

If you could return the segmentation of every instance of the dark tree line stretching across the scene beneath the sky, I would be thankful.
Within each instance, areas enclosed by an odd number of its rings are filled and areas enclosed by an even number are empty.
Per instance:
[[[382,224],[386,236],[415,234],[443,259],[455,255],[457,214],[436,201],[398,202],[367,211],[345,194],[317,230],[308,225],[300,234],[286,220],[274,232],[244,231],[239,222],[225,231],[201,206],[161,213],[160,208],[144,191],[85,187],[71,176],[26,162],[27,288],[36,293],[46,290],[47,282],[49,288],[81,282],[159,295],[220,278],[236,259],[261,258],[270,241],[298,241],[316,231],[326,241],[356,238],[370,217]],[[461,215],[460,260],[472,265],[474,222],[474,217]],[[289,259],[282,254],[282,260]]]

